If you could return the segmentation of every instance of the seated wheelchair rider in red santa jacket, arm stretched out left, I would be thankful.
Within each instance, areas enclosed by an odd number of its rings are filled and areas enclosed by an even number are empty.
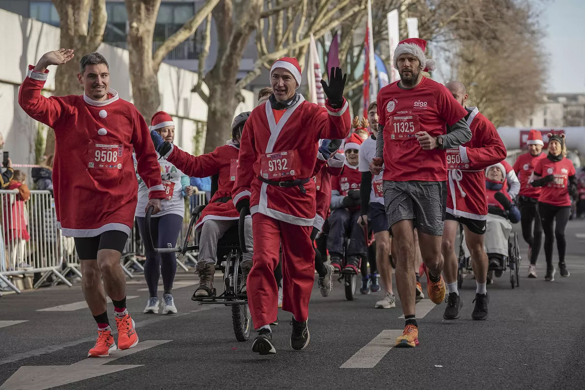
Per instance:
[[[218,189],[194,226],[195,232],[201,230],[199,260],[197,262],[199,285],[193,294],[197,298],[213,296],[218,241],[230,227],[238,225],[240,213],[232,202],[232,187],[236,180],[242,129],[249,116],[249,111],[236,116],[232,122],[232,139],[225,145],[216,147],[211,153],[197,157],[191,156],[178,147],[174,147],[172,143],[164,141],[160,136],[157,136],[158,133],[150,133],[156,150],[184,174],[190,177],[218,175]],[[243,260],[240,264],[243,280],[246,280],[248,272],[252,268],[252,218],[246,218],[245,224],[247,253],[243,254]],[[246,285],[242,286],[240,294],[246,294]]]

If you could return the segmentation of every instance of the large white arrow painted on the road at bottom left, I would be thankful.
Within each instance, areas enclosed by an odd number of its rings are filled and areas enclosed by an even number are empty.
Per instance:
[[[115,351],[108,357],[87,358],[70,365],[26,365],[20,367],[12,377],[8,378],[0,390],[43,390],[51,387],[67,385],[84,379],[112,374],[112,372],[141,367],[143,364],[104,365],[121,357],[148,348],[160,346],[172,340],[147,340],[138,343],[134,348]]]

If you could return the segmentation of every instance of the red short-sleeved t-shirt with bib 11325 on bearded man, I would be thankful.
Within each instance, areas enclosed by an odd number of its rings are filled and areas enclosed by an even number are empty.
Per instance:
[[[446,181],[446,152],[422,150],[415,137],[427,132],[446,134],[467,115],[443,84],[423,77],[413,89],[401,89],[398,81],[378,92],[378,123],[384,126],[384,180]]]

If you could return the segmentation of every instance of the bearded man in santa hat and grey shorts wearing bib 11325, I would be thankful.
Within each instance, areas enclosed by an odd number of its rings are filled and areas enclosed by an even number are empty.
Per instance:
[[[396,346],[418,345],[415,317],[414,235],[416,227],[426,265],[426,292],[437,305],[445,299],[441,277],[441,239],[445,218],[447,165],[445,149],[471,139],[467,111],[444,85],[422,75],[433,70],[425,57],[426,41],[409,38],[398,43],[394,67],[400,81],[378,92],[376,158],[370,171],[384,165],[384,203],[396,241],[396,286],[402,302],[405,329]],[[446,125],[449,125],[447,129]]]

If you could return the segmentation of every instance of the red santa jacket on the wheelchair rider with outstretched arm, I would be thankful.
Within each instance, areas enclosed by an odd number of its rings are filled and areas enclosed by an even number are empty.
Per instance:
[[[170,161],[185,175],[192,177],[219,175],[218,189],[209,201],[209,205],[205,206],[201,218],[195,224],[196,231],[201,229],[203,223],[208,219],[235,220],[240,217],[232,199],[227,202],[218,202],[219,199],[232,197],[239,151],[239,146],[229,141],[228,144],[217,147],[211,153],[197,157],[191,156],[178,147],[173,147],[173,150],[168,154],[167,161]]]

